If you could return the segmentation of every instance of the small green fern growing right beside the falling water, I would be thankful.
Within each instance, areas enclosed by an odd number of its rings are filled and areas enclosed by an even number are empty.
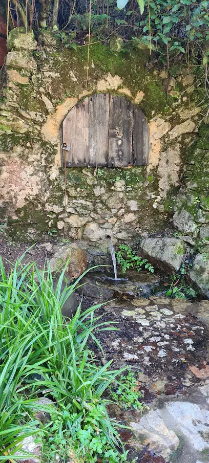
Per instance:
[[[119,245],[116,259],[123,274],[130,268],[134,268],[137,272],[140,272],[143,266],[149,272],[154,273],[151,263],[147,259],[137,256],[136,251],[133,251],[130,246]]]

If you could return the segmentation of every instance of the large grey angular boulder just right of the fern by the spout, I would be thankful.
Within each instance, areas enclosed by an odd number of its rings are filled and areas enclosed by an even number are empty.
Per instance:
[[[139,253],[159,270],[174,273],[181,267],[185,247],[178,238],[144,238]]]

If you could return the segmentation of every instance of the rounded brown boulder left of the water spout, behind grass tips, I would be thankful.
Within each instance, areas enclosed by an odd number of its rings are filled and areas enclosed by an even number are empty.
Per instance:
[[[87,255],[82,249],[76,246],[65,245],[58,248],[50,260],[52,271],[57,271],[63,267],[70,258],[67,273],[70,279],[78,278],[87,270]]]

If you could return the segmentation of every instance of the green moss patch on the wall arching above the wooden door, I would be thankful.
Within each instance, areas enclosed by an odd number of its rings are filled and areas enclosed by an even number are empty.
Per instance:
[[[51,52],[53,72],[59,76],[52,79],[51,92],[57,104],[68,96],[78,96],[85,90],[87,76],[87,47],[78,47],[77,51],[64,50],[60,54]],[[144,50],[130,48],[126,53],[113,53],[110,47],[101,43],[90,47],[89,85],[95,89],[95,84],[107,73],[121,77],[123,86],[127,87],[133,96],[138,91],[144,93],[139,104],[144,114],[150,118],[152,112],[163,112],[166,106],[166,94],[161,80],[157,75],[146,69],[148,56]],[[40,66],[37,60],[37,64]],[[28,90],[28,96],[30,91]],[[26,107],[27,95],[23,94]],[[35,104],[35,101],[32,101]]]

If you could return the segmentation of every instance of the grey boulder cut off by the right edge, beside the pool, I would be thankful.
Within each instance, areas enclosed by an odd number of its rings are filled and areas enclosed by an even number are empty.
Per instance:
[[[191,280],[198,286],[205,296],[209,297],[209,259],[197,254],[190,271]]]

